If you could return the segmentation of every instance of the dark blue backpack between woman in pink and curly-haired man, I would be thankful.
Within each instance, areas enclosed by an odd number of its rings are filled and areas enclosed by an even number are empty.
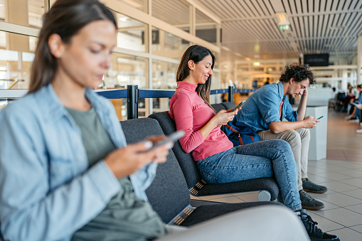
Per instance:
[[[256,134],[251,127],[243,122],[238,122],[236,118],[220,127],[220,129],[228,136],[228,139],[233,142],[234,146],[260,141],[260,136]]]

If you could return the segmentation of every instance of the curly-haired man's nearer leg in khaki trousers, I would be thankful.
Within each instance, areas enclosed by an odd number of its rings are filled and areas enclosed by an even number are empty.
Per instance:
[[[261,140],[274,140],[280,139],[287,141],[292,148],[294,160],[297,163],[298,167],[298,191],[303,189],[302,186],[302,173],[301,173],[301,150],[302,150],[302,141],[300,139],[299,133],[293,129],[274,134],[270,131],[258,132]]]

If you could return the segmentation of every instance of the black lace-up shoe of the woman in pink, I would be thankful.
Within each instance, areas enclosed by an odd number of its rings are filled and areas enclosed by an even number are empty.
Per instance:
[[[300,220],[302,220],[304,227],[306,228],[309,237],[312,241],[340,241],[336,235],[330,235],[323,232],[319,227],[316,227],[318,223],[314,222],[311,216],[307,215],[307,211],[302,209],[299,214]]]

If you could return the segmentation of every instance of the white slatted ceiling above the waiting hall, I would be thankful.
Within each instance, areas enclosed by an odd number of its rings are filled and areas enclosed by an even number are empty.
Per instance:
[[[220,18],[222,45],[245,58],[299,58],[329,53],[353,58],[362,35],[361,0],[194,0]],[[290,31],[280,31],[284,12]],[[259,56],[259,57],[258,57]]]

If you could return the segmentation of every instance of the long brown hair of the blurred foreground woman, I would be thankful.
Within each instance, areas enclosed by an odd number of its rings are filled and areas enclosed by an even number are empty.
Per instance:
[[[97,0],[58,0],[43,17],[43,27],[38,38],[35,58],[31,68],[29,91],[36,92],[53,81],[58,69],[57,59],[50,53],[48,38],[57,33],[63,43],[70,43],[72,37],[88,23],[97,20],[117,22],[110,9]]]

